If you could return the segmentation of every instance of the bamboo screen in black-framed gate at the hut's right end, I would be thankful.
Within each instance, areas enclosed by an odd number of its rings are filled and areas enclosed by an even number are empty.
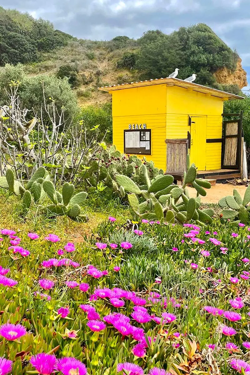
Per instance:
[[[238,122],[226,124],[226,136],[238,134]],[[224,165],[236,165],[238,136],[225,139]]]

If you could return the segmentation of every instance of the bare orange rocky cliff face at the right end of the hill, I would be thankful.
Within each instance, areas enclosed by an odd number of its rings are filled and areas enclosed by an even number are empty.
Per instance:
[[[227,68],[218,69],[214,73],[217,82],[221,84],[237,84],[240,89],[247,86],[247,72],[242,68],[241,61],[241,58],[239,58],[234,72],[229,71]]]

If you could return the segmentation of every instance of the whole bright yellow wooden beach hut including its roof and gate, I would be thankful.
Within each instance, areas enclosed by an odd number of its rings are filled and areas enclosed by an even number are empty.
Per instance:
[[[242,116],[223,121],[223,102],[241,96],[178,78],[99,90],[112,94],[113,144],[119,151],[145,156],[176,179],[183,177],[187,152],[199,177],[240,177]]]

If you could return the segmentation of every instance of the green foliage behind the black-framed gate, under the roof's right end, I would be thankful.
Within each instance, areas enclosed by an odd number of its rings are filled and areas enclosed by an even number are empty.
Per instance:
[[[230,100],[224,102],[225,113],[240,113],[243,111],[243,132],[244,141],[247,147],[250,146],[250,96],[246,96],[244,100]]]

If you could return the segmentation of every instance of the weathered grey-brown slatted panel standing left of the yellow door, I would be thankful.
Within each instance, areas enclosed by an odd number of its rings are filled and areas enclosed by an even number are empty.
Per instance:
[[[167,172],[186,171],[187,139],[166,139],[167,144]]]

